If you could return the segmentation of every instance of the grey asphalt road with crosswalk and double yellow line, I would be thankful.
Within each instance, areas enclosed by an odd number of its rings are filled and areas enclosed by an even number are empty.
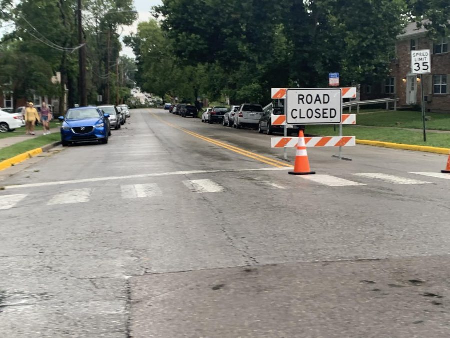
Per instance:
[[[450,336],[445,156],[131,114],[2,173],[0,337]]]

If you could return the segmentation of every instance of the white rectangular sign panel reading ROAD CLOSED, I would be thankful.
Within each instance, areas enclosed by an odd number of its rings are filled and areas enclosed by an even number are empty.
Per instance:
[[[287,124],[340,124],[341,88],[287,90]]]

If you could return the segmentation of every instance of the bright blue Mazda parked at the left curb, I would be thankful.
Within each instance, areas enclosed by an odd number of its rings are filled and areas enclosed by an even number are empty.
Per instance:
[[[111,135],[109,114],[96,107],[72,108],[67,111],[65,118],[60,116],[61,141],[63,146],[75,142],[100,141],[108,143]]]

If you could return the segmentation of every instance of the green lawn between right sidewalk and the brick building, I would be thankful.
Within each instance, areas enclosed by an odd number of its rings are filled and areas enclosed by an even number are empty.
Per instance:
[[[427,129],[450,130],[450,114],[426,113]],[[384,111],[372,114],[359,114],[356,123],[362,126],[417,128],[423,126],[422,113],[414,111]]]

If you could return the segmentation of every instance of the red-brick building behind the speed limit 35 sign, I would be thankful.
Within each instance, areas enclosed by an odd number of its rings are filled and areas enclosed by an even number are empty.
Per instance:
[[[425,109],[450,113],[450,38],[432,41],[426,29],[409,24],[399,35],[395,46],[396,58],[392,60],[390,76],[383,83],[361,86],[361,100],[399,98],[400,107],[421,105],[420,76],[411,72],[411,50],[431,50],[431,74],[423,75]]]

